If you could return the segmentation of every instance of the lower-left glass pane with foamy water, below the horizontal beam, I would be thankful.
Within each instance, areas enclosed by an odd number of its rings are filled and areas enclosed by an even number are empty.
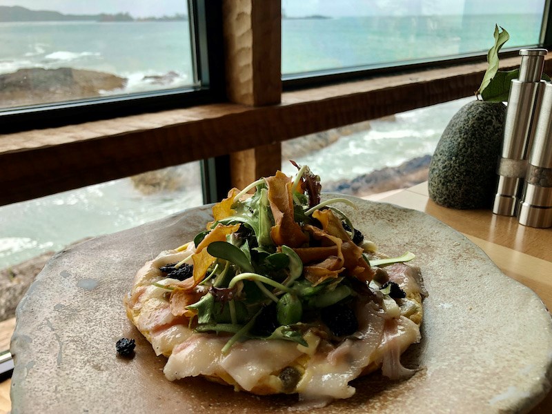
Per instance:
[[[198,161],[2,206],[0,270],[201,204]]]

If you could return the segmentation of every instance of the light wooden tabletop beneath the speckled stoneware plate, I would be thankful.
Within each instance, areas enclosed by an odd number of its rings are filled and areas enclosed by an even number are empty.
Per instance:
[[[504,274],[537,293],[552,308],[552,229],[524,227],[515,217],[493,215],[490,210],[453,210],[437,206],[428,197],[427,183],[379,199],[421,210],[463,233],[499,266]],[[0,338],[12,329],[12,322],[0,324]],[[10,410],[9,380],[0,383],[0,414]],[[531,414],[550,413],[552,393]]]

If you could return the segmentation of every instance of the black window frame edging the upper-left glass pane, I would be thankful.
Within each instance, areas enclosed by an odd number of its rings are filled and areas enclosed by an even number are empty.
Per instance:
[[[182,0],[188,3],[193,67],[198,86],[44,103],[0,110],[0,133],[29,128],[56,128],[68,124],[128,117],[144,112],[186,108],[224,99],[224,51],[220,0]]]

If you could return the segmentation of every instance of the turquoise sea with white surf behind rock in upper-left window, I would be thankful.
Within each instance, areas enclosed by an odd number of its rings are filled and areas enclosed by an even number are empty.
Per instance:
[[[194,83],[187,21],[0,23],[0,73],[21,68],[98,70],[128,79],[122,92]],[[163,85],[146,76],[174,72]]]

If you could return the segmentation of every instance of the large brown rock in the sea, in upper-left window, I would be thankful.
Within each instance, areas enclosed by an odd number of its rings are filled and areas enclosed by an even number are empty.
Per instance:
[[[6,107],[68,101],[125,86],[126,79],[94,70],[24,68],[0,75],[0,101]]]

